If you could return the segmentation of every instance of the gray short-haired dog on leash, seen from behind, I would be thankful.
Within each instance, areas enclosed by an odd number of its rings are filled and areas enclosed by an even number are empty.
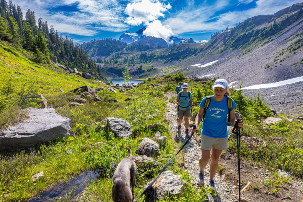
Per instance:
[[[122,159],[113,177],[112,199],[115,202],[132,202],[135,199],[137,165],[133,160],[131,149],[129,147],[127,149],[129,157]],[[132,184],[132,190],[129,181]]]

